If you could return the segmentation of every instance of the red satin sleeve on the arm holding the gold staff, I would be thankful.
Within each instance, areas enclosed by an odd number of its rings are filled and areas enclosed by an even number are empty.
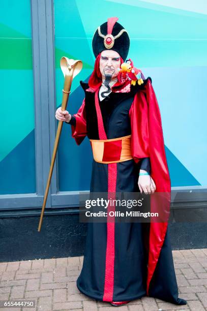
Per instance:
[[[76,144],[80,145],[85,136],[86,130],[86,113],[85,113],[85,99],[82,102],[77,113],[73,114],[76,120],[75,126],[71,125],[72,137],[75,138]]]

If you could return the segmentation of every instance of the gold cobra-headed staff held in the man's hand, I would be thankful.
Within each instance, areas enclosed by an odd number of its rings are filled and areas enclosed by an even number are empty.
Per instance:
[[[69,98],[73,78],[81,71],[82,61],[81,60],[69,59],[68,57],[63,56],[61,58],[61,69],[62,69],[64,77],[65,77],[64,88],[63,88],[63,100],[62,100],[61,109],[62,109],[62,111],[65,111],[66,107],[67,107],[67,103],[68,103],[68,98]],[[55,141],[54,141],[54,149],[53,149],[53,153],[52,153],[52,160],[51,160],[51,164],[50,164],[49,176],[47,179],[47,186],[46,186],[46,190],[45,190],[44,201],[43,201],[43,205],[42,205],[42,211],[41,211],[40,222],[39,222],[39,227],[38,227],[39,232],[40,232],[41,226],[42,226],[45,205],[47,202],[47,196],[48,196],[48,192],[49,192],[49,186],[50,186],[50,181],[51,181],[51,177],[52,177],[52,171],[53,171],[53,167],[54,167],[54,162],[55,162],[55,158],[56,158],[57,147],[58,147],[59,139],[61,136],[62,127],[63,127],[63,121],[59,121],[58,127],[57,127],[57,133],[56,133],[56,137],[55,137]]]

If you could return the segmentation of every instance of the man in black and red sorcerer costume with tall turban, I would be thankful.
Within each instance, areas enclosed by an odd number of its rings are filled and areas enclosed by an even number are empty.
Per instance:
[[[93,37],[96,57],[78,112],[56,110],[71,125],[79,145],[87,136],[94,160],[90,191],[170,193],[161,116],[152,79],[131,81],[122,70],[130,39],[117,18],[109,18]],[[126,61],[131,64],[131,61]],[[135,72],[136,73],[136,72]],[[134,80],[134,79],[133,79]],[[154,202],[155,203],[155,202]],[[151,210],[156,207],[156,203]],[[113,205],[109,210],[115,210]],[[119,306],[142,296],[174,304],[178,298],[167,222],[88,223],[78,289]]]

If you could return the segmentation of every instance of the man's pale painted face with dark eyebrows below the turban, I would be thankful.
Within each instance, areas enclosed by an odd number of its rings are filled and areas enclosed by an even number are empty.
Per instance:
[[[115,79],[119,75],[120,65],[121,56],[119,53],[113,50],[101,52],[99,68],[103,79],[105,79],[105,75],[111,75],[111,80]]]

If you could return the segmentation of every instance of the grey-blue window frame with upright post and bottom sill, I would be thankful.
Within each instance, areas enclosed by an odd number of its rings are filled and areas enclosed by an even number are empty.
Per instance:
[[[41,208],[49,174],[57,122],[53,0],[31,0],[35,103],[36,193],[0,195],[0,210]],[[49,116],[49,117],[48,117]],[[58,190],[58,154],[54,163],[46,208],[78,207],[79,191]],[[189,206],[206,202],[206,186],[172,187],[172,202]],[[88,191],[85,191],[86,193]],[[186,192],[186,196],[181,193]],[[193,199],[188,193],[193,192]],[[81,191],[82,193],[82,191]],[[70,203],[69,203],[70,202]]]

